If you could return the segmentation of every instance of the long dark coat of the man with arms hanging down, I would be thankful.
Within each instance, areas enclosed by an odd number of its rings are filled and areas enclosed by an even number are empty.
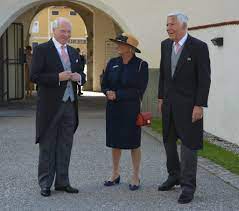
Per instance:
[[[207,44],[188,36],[174,76],[171,76],[173,41],[161,43],[161,62],[158,98],[163,99],[163,137],[168,140],[173,117],[177,133],[184,145],[191,149],[203,146],[203,120],[192,123],[194,106],[207,107],[210,88],[210,59]]]

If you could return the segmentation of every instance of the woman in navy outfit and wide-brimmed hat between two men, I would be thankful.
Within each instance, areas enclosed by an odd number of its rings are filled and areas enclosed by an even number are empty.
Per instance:
[[[111,59],[106,67],[102,91],[106,95],[106,146],[112,148],[113,170],[105,186],[120,182],[119,162],[122,149],[130,149],[133,174],[130,190],[140,185],[141,128],[136,126],[136,117],[148,83],[148,64],[135,56],[140,53],[138,41],[123,33],[110,39],[117,44],[119,57]]]

